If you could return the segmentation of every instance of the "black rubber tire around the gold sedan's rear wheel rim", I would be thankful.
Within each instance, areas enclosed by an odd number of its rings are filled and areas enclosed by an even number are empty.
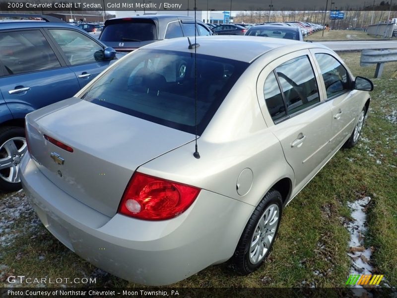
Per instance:
[[[266,209],[271,206],[276,205],[278,207],[278,221],[275,227],[275,232],[270,240],[270,245],[267,247],[267,251],[265,252],[264,256],[258,260],[257,263],[253,263],[250,257],[250,246],[252,241],[254,240],[254,232],[258,228],[258,223],[261,218],[264,216],[264,212]],[[251,218],[249,219],[241,237],[239,243],[237,244],[236,250],[234,252],[233,257],[231,258],[231,263],[233,269],[241,275],[248,275],[255,270],[257,270],[264,260],[266,259],[271,246],[274,242],[274,239],[277,235],[278,227],[280,225],[282,215],[282,197],[281,194],[274,189],[270,189],[262,201],[259,203],[257,208],[255,209],[254,213],[252,214]],[[258,236],[259,237],[259,236]]]

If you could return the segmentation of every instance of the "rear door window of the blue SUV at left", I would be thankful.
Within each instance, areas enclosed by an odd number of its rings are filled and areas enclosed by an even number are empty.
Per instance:
[[[5,75],[60,67],[46,38],[39,30],[0,33],[0,61]]]

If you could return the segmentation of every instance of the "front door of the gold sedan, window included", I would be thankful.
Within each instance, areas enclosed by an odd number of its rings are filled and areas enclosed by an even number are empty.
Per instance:
[[[320,82],[326,91],[326,101],[332,110],[332,136],[330,145],[336,149],[350,136],[358,112],[360,92],[353,90],[352,78],[343,64],[324,49],[311,50],[321,73]]]

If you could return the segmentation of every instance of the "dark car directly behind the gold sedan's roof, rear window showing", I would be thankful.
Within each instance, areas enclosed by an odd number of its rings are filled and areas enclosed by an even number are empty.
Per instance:
[[[293,39],[303,41],[301,30],[297,27],[277,26],[277,25],[259,25],[248,29],[245,35],[275,37],[284,39]]]

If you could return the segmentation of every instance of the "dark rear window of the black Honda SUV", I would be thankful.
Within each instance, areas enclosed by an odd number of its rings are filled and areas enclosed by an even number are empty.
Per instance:
[[[147,22],[123,22],[106,25],[101,41],[156,40],[156,25]]]

